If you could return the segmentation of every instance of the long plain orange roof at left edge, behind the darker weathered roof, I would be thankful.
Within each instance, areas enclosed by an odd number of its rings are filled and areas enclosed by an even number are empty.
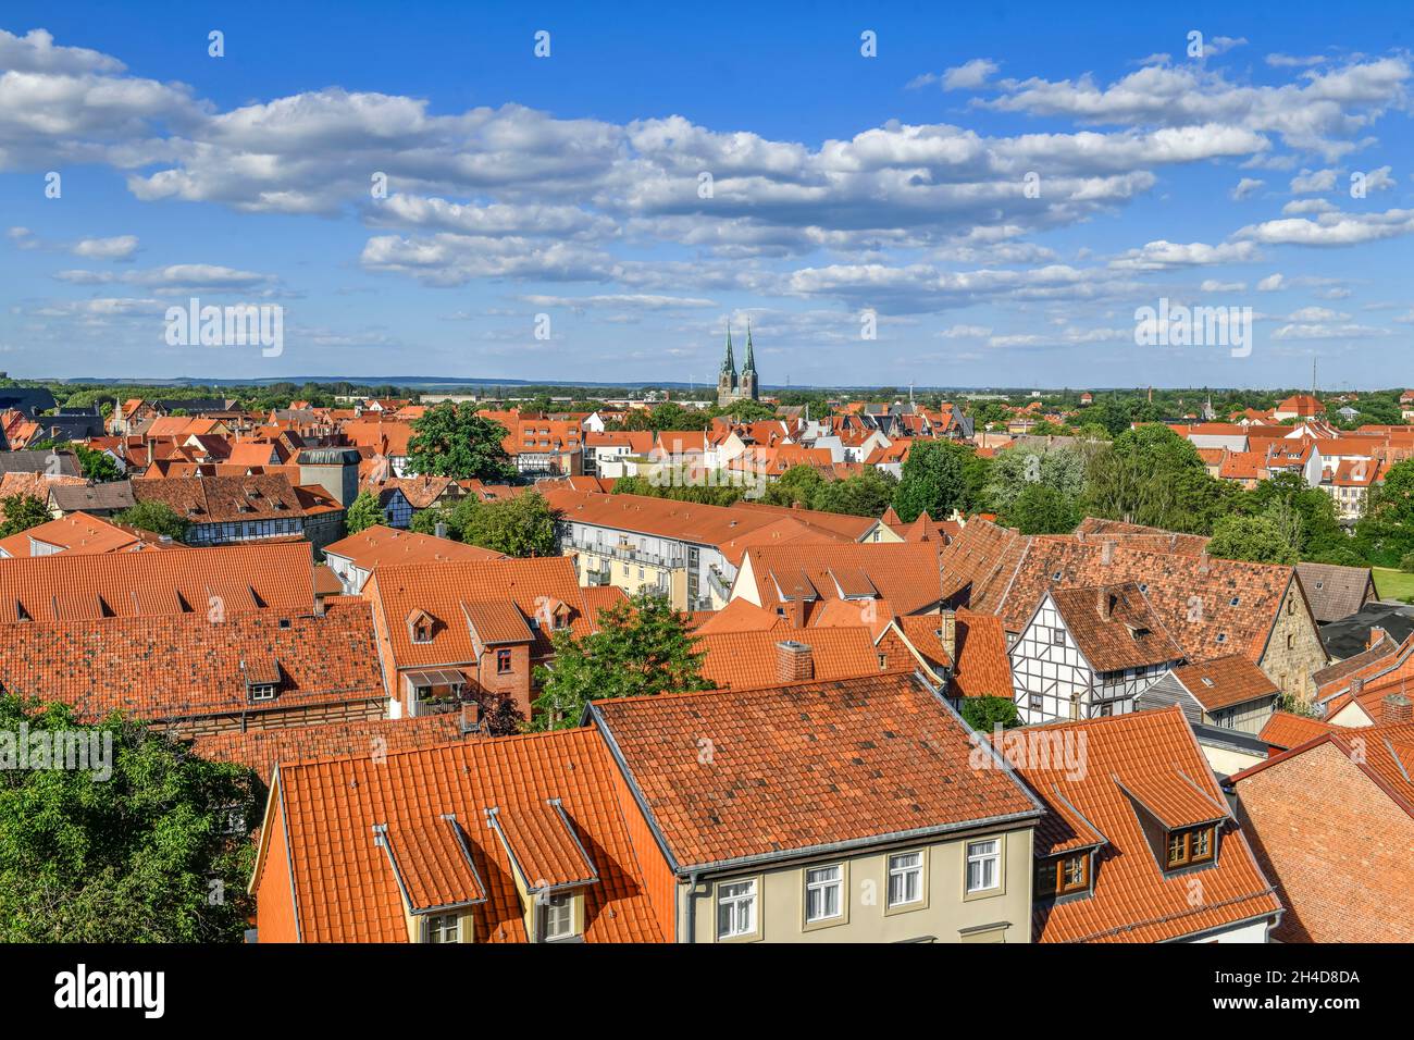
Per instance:
[[[61,606],[64,610],[61,610]],[[0,560],[0,621],[314,610],[307,542]]]

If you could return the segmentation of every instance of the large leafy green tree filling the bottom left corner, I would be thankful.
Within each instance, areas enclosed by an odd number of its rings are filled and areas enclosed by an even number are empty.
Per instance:
[[[89,734],[112,741],[98,768],[0,770],[0,940],[239,942],[256,774],[136,722],[82,726],[65,705],[0,695],[0,754]]]

